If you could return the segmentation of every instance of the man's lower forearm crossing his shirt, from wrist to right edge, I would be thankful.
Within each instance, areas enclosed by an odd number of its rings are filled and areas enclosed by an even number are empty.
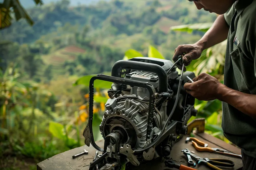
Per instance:
[[[217,99],[226,102],[246,115],[256,118],[256,95],[246,94],[220,84]]]

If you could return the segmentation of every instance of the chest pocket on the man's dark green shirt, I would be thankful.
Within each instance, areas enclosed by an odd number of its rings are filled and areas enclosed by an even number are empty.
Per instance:
[[[253,61],[244,57],[244,53],[238,47],[231,55],[236,84],[241,92],[256,94],[256,78],[254,75]]]

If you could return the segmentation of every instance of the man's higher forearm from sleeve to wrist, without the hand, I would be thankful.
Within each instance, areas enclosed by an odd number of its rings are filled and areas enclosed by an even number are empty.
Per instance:
[[[229,26],[225,21],[224,15],[220,15],[196,44],[200,46],[202,50],[212,47],[228,38],[228,30]]]

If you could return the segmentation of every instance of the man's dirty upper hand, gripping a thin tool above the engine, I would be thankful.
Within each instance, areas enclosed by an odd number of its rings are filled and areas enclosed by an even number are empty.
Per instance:
[[[172,60],[176,62],[178,57],[182,55],[182,60],[185,66],[188,66],[192,60],[198,59],[202,54],[202,47],[197,44],[179,45],[172,57]],[[177,67],[181,70],[182,66],[177,63]],[[186,71],[186,68],[184,68]]]

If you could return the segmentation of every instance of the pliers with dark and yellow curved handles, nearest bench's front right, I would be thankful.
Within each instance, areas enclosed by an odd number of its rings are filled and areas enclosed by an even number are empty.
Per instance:
[[[189,151],[188,149],[186,149]],[[234,167],[235,163],[229,159],[217,159],[217,158],[201,158],[193,153],[190,153],[190,156],[196,160],[196,164],[205,165],[210,169],[222,170],[217,166],[223,167]],[[215,166],[216,165],[216,166]]]

